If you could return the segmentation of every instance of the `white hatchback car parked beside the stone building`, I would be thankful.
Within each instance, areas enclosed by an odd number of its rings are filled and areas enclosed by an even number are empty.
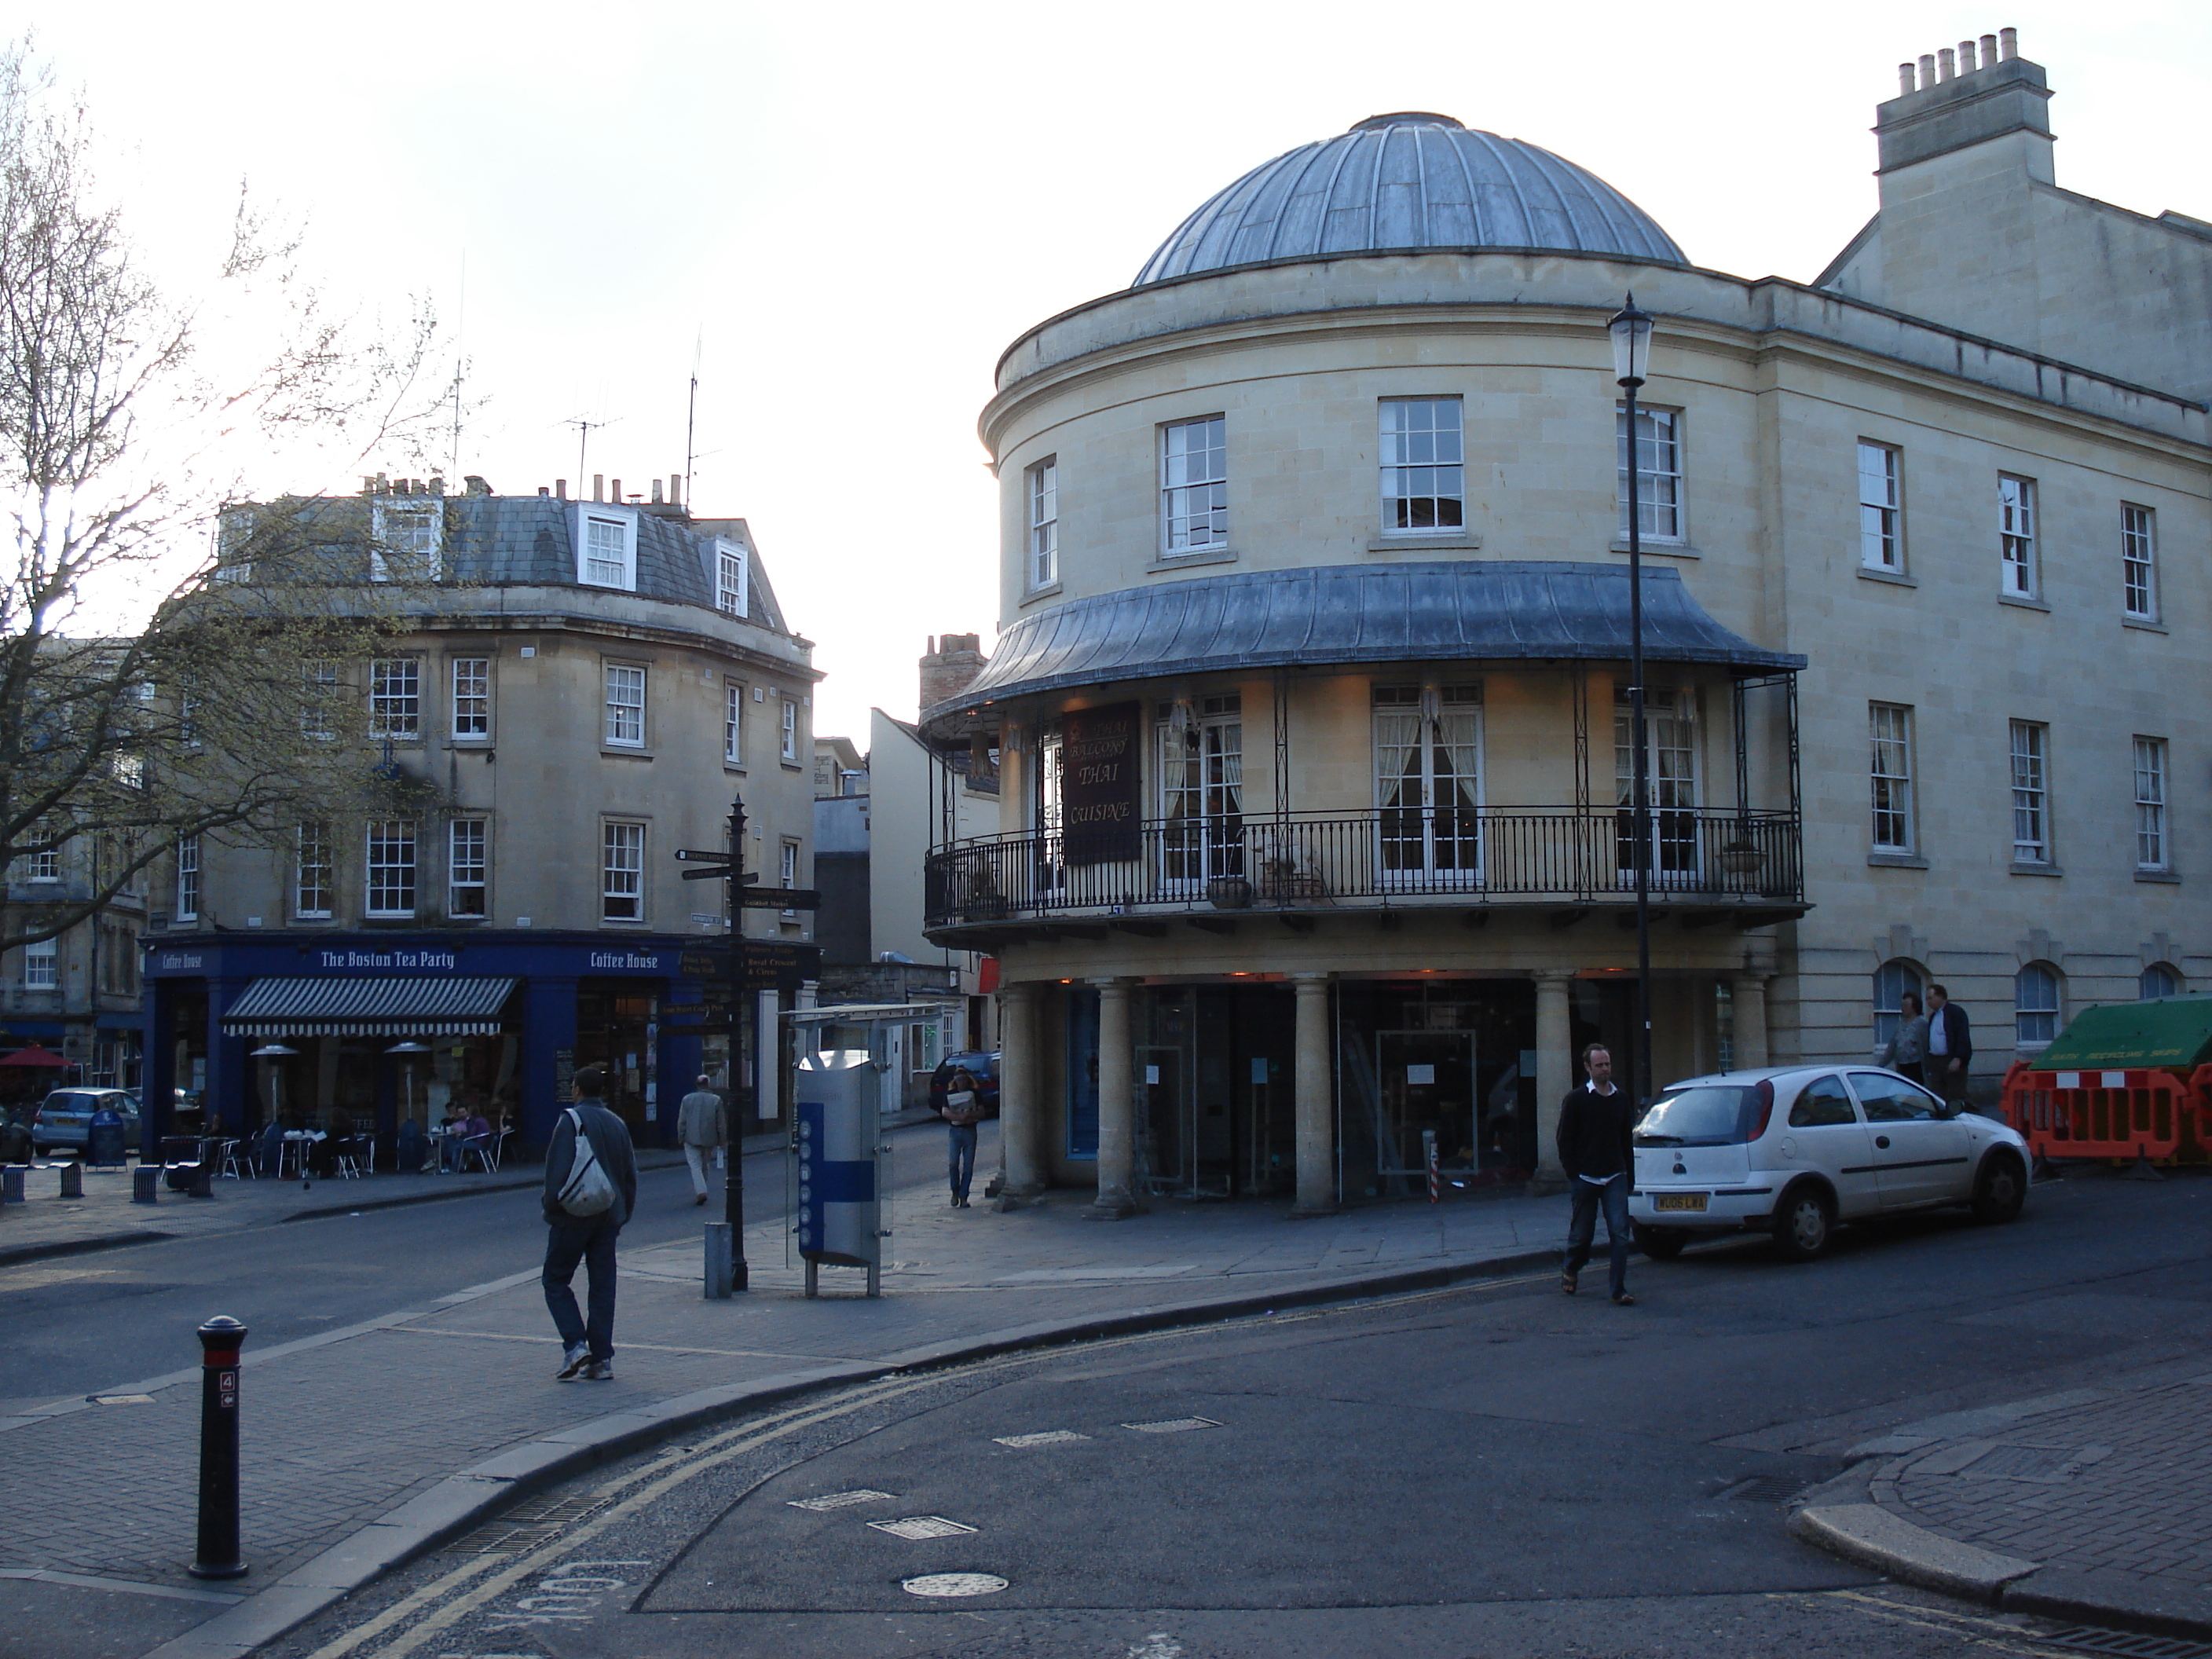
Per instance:
[[[1635,1130],[1628,1219],[1648,1256],[1772,1232],[1794,1261],[1840,1221],[1944,1203],[2011,1221],[2028,1144],[1878,1066],[1759,1066],[1668,1084]]]

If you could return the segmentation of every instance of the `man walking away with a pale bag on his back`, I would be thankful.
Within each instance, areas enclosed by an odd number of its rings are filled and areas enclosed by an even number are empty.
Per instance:
[[[637,1206],[637,1159],[630,1130],[606,1110],[606,1066],[584,1066],[575,1075],[575,1106],[553,1126],[546,1148],[544,1212],[546,1310],[560,1332],[562,1383],[611,1383],[615,1378],[615,1237]],[[591,1314],[577,1312],[577,1263],[591,1272]]]

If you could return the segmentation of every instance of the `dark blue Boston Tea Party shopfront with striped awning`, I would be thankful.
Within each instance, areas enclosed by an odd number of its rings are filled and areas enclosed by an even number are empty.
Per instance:
[[[588,933],[195,936],[146,947],[146,1144],[272,1119],[380,1139],[480,1110],[544,1146],[580,1066],[641,1146],[672,1139],[726,1040],[670,1029],[726,998],[699,940]],[[703,1053],[701,1044],[714,1053]]]

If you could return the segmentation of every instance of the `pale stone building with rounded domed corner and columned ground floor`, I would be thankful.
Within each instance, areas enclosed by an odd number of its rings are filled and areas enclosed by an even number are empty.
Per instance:
[[[1628,1042],[1639,863],[1659,1082],[1865,1060],[1940,978],[1986,1091],[2212,971],[2212,228],[2059,190],[2042,69],[1960,51],[1809,285],[1400,113],[1006,349],[1000,637],[922,726],[1002,757],[929,922],[1000,960],[1011,1190],[1325,1210],[1427,1137],[1544,1179],[1573,1053]]]

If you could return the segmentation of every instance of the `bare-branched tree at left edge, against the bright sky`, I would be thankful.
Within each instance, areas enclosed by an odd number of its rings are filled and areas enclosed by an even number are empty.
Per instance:
[[[246,369],[210,365],[212,314],[232,347],[259,319]],[[97,849],[66,898],[7,905],[0,949],[192,836],[272,838],[420,787],[365,759],[343,666],[429,573],[376,549],[365,502],[223,502],[246,458],[427,431],[431,343],[427,314],[396,338],[330,316],[243,197],[206,290],[164,292],[95,195],[82,106],[0,46],[0,865]]]

